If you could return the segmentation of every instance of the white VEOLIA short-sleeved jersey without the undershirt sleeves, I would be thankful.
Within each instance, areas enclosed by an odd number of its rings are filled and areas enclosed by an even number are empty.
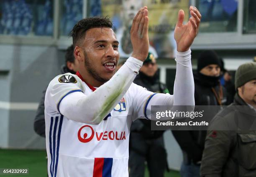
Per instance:
[[[63,83],[60,80],[73,80]],[[74,83],[76,82],[76,83]],[[51,87],[58,94],[51,95]],[[46,92],[45,122],[49,176],[59,177],[128,177],[129,134],[135,109],[143,107],[152,92],[143,92],[134,101],[134,93],[144,90],[132,84],[120,102],[98,125],[69,120],[59,113],[61,100],[73,92],[89,95],[92,90],[72,74],[59,75]],[[138,95],[137,95],[138,96]],[[100,100],[99,100],[100,101]],[[55,110],[47,105],[54,102]],[[90,105],[94,106],[94,105]],[[138,117],[143,117],[143,112]],[[86,115],[84,115],[86,116]]]

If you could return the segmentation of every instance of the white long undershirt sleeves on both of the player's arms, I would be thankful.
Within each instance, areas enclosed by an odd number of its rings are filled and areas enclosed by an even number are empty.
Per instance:
[[[148,103],[147,111],[151,110],[151,105],[195,105],[194,80],[190,59],[190,49],[186,52],[177,52],[174,95],[154,95]],[[89,95],[73,92],[64,97],[59,105],[60,113],[77,122],[99,124],[125,95],[142,64],[143,62],[140,60],[129,57],[118,72],[108,82],[98,87],[95,92]],[[143,92],[145,94],[152,93],[147,90],[143,90]]]

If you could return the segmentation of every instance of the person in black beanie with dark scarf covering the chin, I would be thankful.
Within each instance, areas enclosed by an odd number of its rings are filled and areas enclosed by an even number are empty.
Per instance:
[[[225,105],[226,91],[220,85],[220,57],[213,50],[205,50],[197,59],[194,73],[195,105]],[[214,117],[217,112],[210,115]],[[206,131],[172,131],[183,153],[182,177],[200,177],[200,162]]]

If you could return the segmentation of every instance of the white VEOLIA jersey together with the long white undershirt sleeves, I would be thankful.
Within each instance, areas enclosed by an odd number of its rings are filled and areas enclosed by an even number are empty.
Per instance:
[[[128,177],[132,121],[150,119],[151,105],[195,104],[190,50],[178,54],[174,95],[132,83],[142,65],[133,57],[97,90],[79,73],[55,77],[45,97],[49,177]]]

